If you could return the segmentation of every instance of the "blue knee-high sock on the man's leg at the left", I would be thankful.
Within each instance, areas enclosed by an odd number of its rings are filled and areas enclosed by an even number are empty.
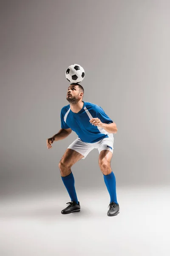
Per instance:
[[[71,174],[69,174],[68,176],[62,177],[62,181],[68,191],[68,194],[71,198],[71,201],[75,201],[78,204],[78,199],[77,199],[77,195],[76,195],[76,190],[74,187],[74,176],[73,173],[71,172]]]

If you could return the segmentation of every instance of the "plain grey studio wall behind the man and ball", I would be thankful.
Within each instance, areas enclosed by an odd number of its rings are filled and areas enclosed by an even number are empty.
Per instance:
[[[72,132],[48,150],[68,105],[65,70],[85,69],[83,100],[116,122],[117,186],[170,183],[170,2],[1,1],[0,194],[64,189],[58,163]],[[104,187],[98,151],[72,172],[76,188]]]

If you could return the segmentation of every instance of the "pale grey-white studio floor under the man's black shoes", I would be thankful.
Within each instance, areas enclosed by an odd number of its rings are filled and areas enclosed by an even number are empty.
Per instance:
[[[170,188],[117,188],[120,213],[108,217],[106,190],[79,193],[81,211],[62,215],[66,192],[1,199],[0,256],[169,256]]]

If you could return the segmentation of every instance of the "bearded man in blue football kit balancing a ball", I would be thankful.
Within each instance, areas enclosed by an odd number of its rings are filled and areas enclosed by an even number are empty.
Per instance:
[[[85,159],[92,149],[97,148],[99,167],[111,198],[108,216],[115,216],[119,213],[119,204],[116,198],[116,179],[111,170],[111,158],[113,134],[117,132],[116,124],[101,107],[82,101],[83,95],[84,89],[80,84],[71,84],[68,87],[66,99],[70,104],[61,109],[61,129],[46,140],[47,147],[50,149],[54,141],[65,139],[72,130],[78,135],[59,162],[61,178],[71,198],[71,202],[67,203],[68,206],[61,213],[80,211],[71,167],[80,159]]]

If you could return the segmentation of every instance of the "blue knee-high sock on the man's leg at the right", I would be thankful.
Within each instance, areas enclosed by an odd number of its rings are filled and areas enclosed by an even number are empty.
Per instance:
[[[111,197],[111,202],[115,202],[116,204],[118,204],[117,198],[116,198],[116,179],[115,179],[114,173],[111,172],[110,174],[103,175],[103,176],[104,176],[105,184],[107,186],[109,195]]]

